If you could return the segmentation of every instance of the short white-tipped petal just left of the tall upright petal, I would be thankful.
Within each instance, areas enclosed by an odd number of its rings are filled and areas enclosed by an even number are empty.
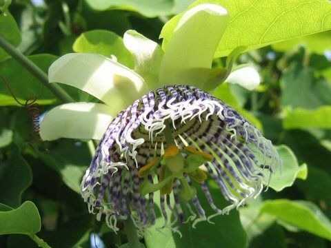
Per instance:
[[[143,77],[150,89],[155,89],[163,56],[162,48],[134,30],[124,34],[123,42],[134,56],[134,72]]]

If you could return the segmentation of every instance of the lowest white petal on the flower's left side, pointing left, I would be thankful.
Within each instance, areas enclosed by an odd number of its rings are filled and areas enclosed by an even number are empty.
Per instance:
[[[57,138],[101,139],[112,121],[110,107],[101,103],[67,103],[54,107],[41,121],[44,141]]]

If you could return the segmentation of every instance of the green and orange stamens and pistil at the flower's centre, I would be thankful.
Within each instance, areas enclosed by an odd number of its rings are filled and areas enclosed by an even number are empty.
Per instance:
[[[165,153],[161,157],[153,158],[147,165],[139,169],[138,176],[143,178],[139,192],[142,196],[158,190],[161,194],[171,194],[174,178],[178,178],[182,186],[181,198],[191,200],[197,194],[197,189],[190,185],[185,177],[189,176],[197,183],[203,183],[207,175],[199,167],[207,161],[212,161],[213,158],[212,155],[200,152],[193,147],[179,149],[172,137],[172,124],[166,124],[163,130],[167,143]],[[153,174],[158,175],[159,183],[154,184],[150,181],[148,175]]]

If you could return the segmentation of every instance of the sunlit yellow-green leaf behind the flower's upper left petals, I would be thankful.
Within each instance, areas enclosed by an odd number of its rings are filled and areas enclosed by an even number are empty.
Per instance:
[[[114,32],[92,30],[83,32],[73,45],[74,52],[96,53],[117,57],[117,61],[128,68],[133,68],[134,59],[123,44],[123,39]]]

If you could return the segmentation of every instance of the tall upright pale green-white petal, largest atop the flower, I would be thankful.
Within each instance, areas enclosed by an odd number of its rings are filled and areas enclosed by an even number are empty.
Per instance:
[[[181,17],[161,62],[161,85],[190,84],[202,87],[211,68],[214,52],[227,27],[230,14],[216,4],[201,4]]]

